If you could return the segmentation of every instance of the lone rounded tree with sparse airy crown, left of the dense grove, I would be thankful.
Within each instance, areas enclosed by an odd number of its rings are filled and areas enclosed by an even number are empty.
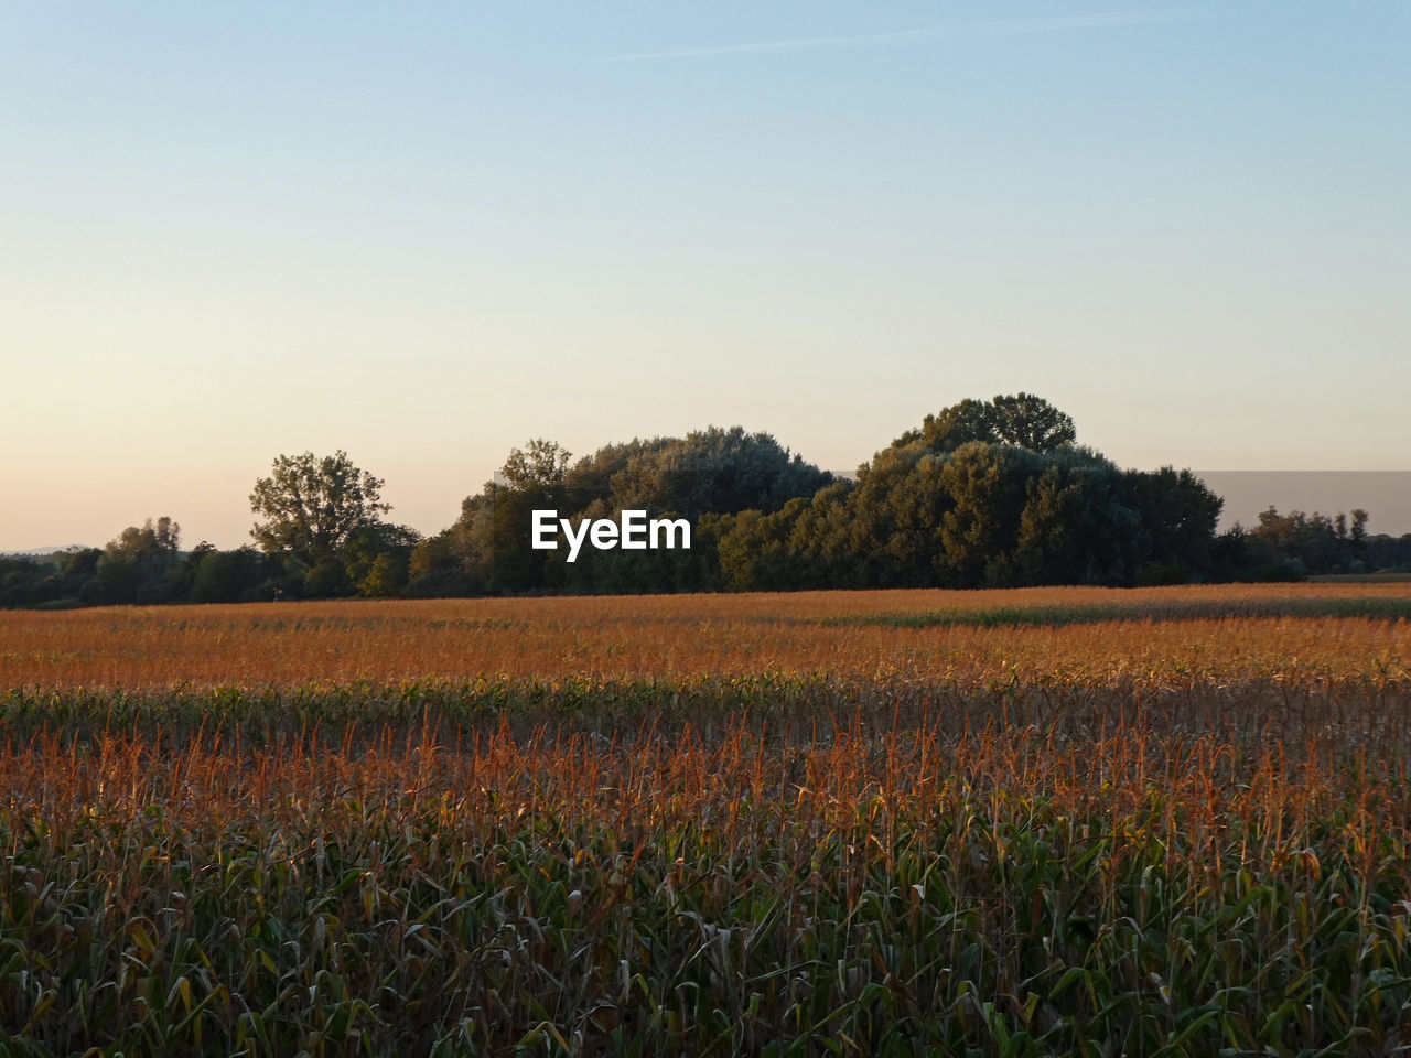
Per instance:
[[[332,456],[279,456],[274,473],[255,481],[250,509],[261,521],[250,535],[268,553],[284,552],[310,567],[337,561],[349,537],[377,525],[392,508],[381,502],[382,480]]]

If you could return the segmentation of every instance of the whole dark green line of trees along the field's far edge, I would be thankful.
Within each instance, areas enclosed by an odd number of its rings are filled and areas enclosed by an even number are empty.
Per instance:
[[[512,449],[433,536],[384,521],[384,482],[347,453],[279,456],[250,494],[254,545],[181,547],[171,518],[106,547],[0,557],[0,605],[237,602],[875,587],[1144,585],[1411,571],[1411,535],[1367,513],[1280,515],[1216,532],[1222,501],[1188,470],[1122,470],[1030,394],[928,415],[842,478],[768,433],[710,427]],[[529,546],[531,512],[687,518],[690,550]]]

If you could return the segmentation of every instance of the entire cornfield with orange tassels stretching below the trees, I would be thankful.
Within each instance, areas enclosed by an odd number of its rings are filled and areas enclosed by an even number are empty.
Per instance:
[[[0,1055],[1411,1051],[1407,618],[0,612]]]

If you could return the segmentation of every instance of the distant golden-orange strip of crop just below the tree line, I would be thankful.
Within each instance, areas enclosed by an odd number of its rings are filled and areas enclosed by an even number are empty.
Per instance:
[[[0,612],[0,687],[158,690],[422,679],[828,673],[1184,683],[1403,673],[1411,625],[1338,616],[1411,585],[875,591],[358,601]],[[1300,611],[1311,616],[1300,616]],[[986,612],[1024,624],[978,626]],[[1103,612],[1112,621],[1101,619]],[[1070,616],[1078,624],[1067,624]],[[1290,615],[1292,614],[1292,616]],[[1318,614],[1328,614],[1318,616]],[[954,619],[899,626],[907,616]],[[1051,621],[1047,622],[1047,618]],[[1038,621],[1034,622],[1033,619]],[[830,624],[856,621],[859,624]],[[868,624],[880,621],[880,624]]]

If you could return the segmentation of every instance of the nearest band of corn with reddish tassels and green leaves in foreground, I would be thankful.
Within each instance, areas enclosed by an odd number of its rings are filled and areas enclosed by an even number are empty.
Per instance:
[[[1390,753],[1150,718],[37,735],[0,749],[0,1047],[1386,1054],[1408,822]]]

